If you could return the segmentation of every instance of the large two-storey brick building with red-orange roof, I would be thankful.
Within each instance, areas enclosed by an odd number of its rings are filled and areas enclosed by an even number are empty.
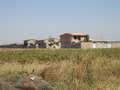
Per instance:
[[[60,35],[61,48],[81,48],[81,42],[88,41],[88,34],[65,33]]]

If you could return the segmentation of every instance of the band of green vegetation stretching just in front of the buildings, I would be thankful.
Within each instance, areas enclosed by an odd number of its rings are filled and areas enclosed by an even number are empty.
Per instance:
[[[61,61],[61,60],[77,60],[88,57],[91,59],[109,58],[120,59],[120,49],[3,49],[0,50],[0,62],[20,62],[32,63],[34,61]]]

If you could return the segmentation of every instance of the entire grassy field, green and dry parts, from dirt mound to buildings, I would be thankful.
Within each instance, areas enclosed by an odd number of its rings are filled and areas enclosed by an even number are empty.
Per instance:
[[[56,90],[120,90],[120,49],[0,49],[0,76],[22,73]]]

